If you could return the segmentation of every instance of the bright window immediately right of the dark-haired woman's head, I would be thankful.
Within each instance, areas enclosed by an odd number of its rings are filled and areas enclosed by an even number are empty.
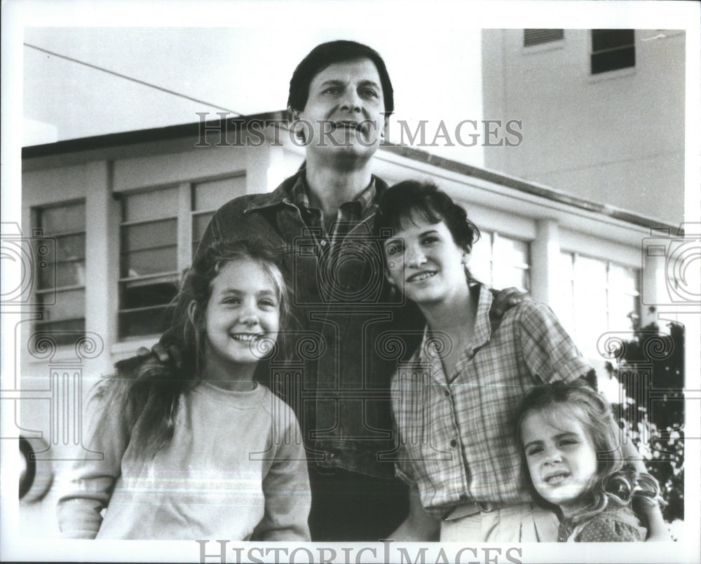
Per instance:
[[[479,282],[502,289],[515,287],[528,291],[530,252],[526,241],[482,231],[472,247],[470,272]]]

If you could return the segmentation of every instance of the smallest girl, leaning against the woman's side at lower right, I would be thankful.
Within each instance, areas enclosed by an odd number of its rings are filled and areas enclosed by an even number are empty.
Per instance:
[[[624,466],[604,397],[584,386],[542,385],[526,396],[519,415],[531,485],[560,517],[558,542],[645,540],[633,509],[662,505],[660,487]]]

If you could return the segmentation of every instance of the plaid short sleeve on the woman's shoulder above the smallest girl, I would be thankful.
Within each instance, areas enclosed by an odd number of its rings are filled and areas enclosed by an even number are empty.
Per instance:
[[[592,370],[547,305],[526,300],[517,307],[522,352],[531,375],[546,383],[571,382]]]

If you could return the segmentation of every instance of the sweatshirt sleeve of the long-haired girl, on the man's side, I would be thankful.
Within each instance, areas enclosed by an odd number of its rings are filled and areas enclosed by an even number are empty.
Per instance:
[[[311,490],[303,436],[292,408],[280,404],[280,420],[274,422],[278,445],[263,479],[265,514],[253,536],[266,542],[309,541]]]

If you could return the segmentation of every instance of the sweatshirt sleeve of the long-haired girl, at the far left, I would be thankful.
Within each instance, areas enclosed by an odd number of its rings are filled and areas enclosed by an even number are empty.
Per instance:
[[[57,505],[62,538],[94,539],[102,524],[102,510],[109,504],[114,483],[121,474],[121,460],[128,444],[122,414],[102,400],[97,402],[87,445],[81,448],[71,472],[64,477]]]

